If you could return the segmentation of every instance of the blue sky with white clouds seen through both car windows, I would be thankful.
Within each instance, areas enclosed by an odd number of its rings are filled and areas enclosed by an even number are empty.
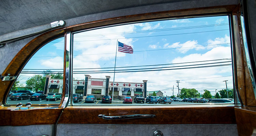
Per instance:
[[[134,53],[127,54],[118,52],[116,67],[159,65],[231,58],[228,22],[228,16],[187,18],[140,22],[76,33],[74,34],[73,68],[114,67],[117,39],[121,43],[132,46]],[[63,38],[48,43],[34,54],[25,68],[63,68],[63,44]],[[204,63],[213,62],[220,61]],[[167,66],[180,65],[186,64]],[[161,68],[166,66],[152,67]],[[152,67],[135,67],[127,69]],[[32,76],[33,74],[21,75]],[[105,78],[105,75],[110,75],[110,80],[113,81],[113,73],[97,73],[90,75],[92,78]],[[218,90],[226,88],[225,82],[222,82],[224,80],[229,80],[228,88],[233,88],[231,75],[232,67],[222,66],[197,69],[116,73],[115,82],[142,83],[142,80],[148,80],[147,85],[149,91],[164,89],[165,95],[172,95],[172,90],[169,88],[174,85],[174,95],[176,95],[177,84],[175,83],[175,80],[181,80],[181,83],[179,83],[180,88],[196,88],[200,93],[203,89],[208,89],[212,94],[215,94],[215,88]],[[28,77],[23,76],[22,78],[25,80]],[[84,79],[84,74],[74,74],[74,78]]]

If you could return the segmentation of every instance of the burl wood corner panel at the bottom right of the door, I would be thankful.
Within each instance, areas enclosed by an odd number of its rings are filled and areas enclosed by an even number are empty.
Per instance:
[[[240,136],[256,135],[256,107],[235,107],[237,130]]]

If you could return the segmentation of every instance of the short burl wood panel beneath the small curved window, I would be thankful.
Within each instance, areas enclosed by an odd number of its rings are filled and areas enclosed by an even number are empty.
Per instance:
[[[62,110],[58,107],[35,107],[29,110],[15,109],[16,107],[4,107],[0,109],[0,125],[55,124]]]

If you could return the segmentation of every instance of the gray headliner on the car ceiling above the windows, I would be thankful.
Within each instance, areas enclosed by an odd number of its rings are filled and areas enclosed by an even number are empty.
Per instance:
[[[164,6],[165,3],[175,2],[182,3],[177,6],[185,8],[190,4],[203,4],[205,0],[0,0],[0,36],[58,20],[148,5]],[[205,6],[225,3],[237,4],[238,0],[210,0]],[[169,8],[173,10],[177,7]],[[127,15],[129,12],[127,10]]]

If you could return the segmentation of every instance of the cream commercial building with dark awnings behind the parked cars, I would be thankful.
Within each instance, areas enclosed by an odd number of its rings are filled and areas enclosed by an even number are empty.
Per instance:
[[[114,98],[123,98],[123,96],[142,95],[146,98],[146,83],[143,80],[141,83],[132,82],[110,82],[110,76],[105,79],[91,78],[90,75],[85,75],[85,80],[73,80],[73,94],[82,94],[83,99],[87,95],[94,95],[96,98],[101,98],[104,95],[111,95],[114,92]],[[113,89],[114,87],[114,89]],[[46,75],[44,94],[49,92],[62,93],[63,79],[51,79],[50,75]]]

